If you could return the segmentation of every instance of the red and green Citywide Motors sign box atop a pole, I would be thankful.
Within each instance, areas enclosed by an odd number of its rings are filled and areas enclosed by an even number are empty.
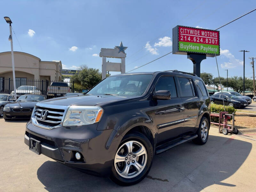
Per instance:
[[[206,54],[207,57],[220,55],[220,31],[177,25],[172,29],[172,53],[187,55]]]

